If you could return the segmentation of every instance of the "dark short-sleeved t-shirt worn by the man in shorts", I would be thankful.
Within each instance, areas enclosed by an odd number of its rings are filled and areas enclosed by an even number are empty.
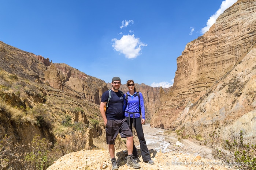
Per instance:
[[[109,91],[105,91],[101,96],[101,102],[107,102]],[[120,91],[114,92],[111,90],[111,98],[106,109],[106,117],[108,120],[124,119],[123,115],[123,95]]]

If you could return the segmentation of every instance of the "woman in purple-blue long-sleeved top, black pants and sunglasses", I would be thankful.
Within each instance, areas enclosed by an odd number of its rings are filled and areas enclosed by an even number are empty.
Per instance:
[[[131,131],[133,126],[137,132],[137,136],[140,141],[141,156],[144,162],[154,164],[154,161],[150,157],[148,147],[146,146],[146,140],[142,129],[142,124],[145,123],[145,108],[143,96],[140,92],[136,92],[133,80],[128,80],[126,85],[129,91],[125,94],[126,106],[125,117],[129,123]],[[138,153],[133,143],[133,155],[138,159]]]

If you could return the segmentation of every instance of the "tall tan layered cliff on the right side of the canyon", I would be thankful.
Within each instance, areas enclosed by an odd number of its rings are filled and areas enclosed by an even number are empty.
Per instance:
[[[240,129],[256,136],[255,41],[256,1],[238,0],[186,45],[172,88],[160,89],[161,106],[151,125],[185,128],[189,135]]]

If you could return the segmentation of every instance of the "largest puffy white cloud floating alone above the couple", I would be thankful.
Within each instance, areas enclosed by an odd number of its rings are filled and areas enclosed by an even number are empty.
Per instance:
[[[140,41],[140,38],[135,38],[134,35],[123,35],[121,39],[112,39],[114,43],[112,47],[121,54],[125,54],[126,58],[136,58],[141,54],[141,47],[147,46]]]

